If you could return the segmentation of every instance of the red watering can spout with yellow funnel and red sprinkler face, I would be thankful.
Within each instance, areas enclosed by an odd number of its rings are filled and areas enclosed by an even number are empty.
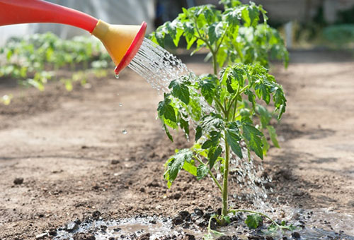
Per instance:
[[[82,28],[98,37],[118,74],[133,59],[144,40],[147,23],[110,25],[86,13],[42,0],[0,0],[0,26],[18,23],[61,23]]]

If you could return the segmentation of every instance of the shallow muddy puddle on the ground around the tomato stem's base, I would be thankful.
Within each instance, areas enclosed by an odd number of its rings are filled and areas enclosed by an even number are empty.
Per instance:
[[[290,210],[290,209],[289,209]],[[288,211],[288,210],[287,210]],[[298,239],[337,239],[354,240],[354,216],[333,212],[328,209],[318,210],[292,210],[287,214],[288,223],[297,227]],[[232,236],[235,240],[253,239],[252,236],[272,236],[273,239],[295,239],[292,232],[277,232],[273,235],[265,235],[268,223],[261,229],[250,230],[244,224],[246,215],[239,215],[237,220],[227,227],[219,228],[219,232]],[[89,220],[72,227],[74,231],[69,231],[66,227],[57,229],[54,239],[74,239],[78,233],[91,233],[96,239],[137,239],[143,234],[150,234],[149,239],[182,239],[185,234],[195,236],[195,239],[202,239],[206,232],[206,227],[198,227],[200,222],[207,222],[205,215],[197,216],[194,213],[185,219],[181,224],[173,226],[173,220],[163,217],[132,217],[120,220]],[[296,219],[296,220],[295,220]],[[200,221],[202,220],[202,221]],[[262,238],[260,238],[262,239]]]

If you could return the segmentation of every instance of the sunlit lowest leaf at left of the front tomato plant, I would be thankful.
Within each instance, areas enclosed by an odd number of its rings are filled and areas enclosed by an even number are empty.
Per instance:
[[[171,187],[172,182],[176,179],[178,172],[181,171],[185,162],[191,162],[193,152],[185,148],[178,151],[175,155],[171,156],[166,162],[166,172],[164,178],[168,181],[167,185]]]

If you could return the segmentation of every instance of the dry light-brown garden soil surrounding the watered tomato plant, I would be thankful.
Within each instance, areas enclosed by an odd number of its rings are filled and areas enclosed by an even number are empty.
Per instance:
[[[287,70],[273,66],[288,104],[277,125],[282,148],[263,161],[274,179],[270,198],[353,214],[354,60],[338,52],[290,57]],[[201,59],[183,61],[195,73],[210,71]],[[129,69],[119,80],[90,76],[91,88],[72,92],[59,83],[19,90],[14,81],[0,80],[0,95],[15,96],[0,106],[0,239],[45,239],[43,232],[98,213],[173,217],[220,205],[209,179],[183,172],[166,188],[164,162],[188,143],[164,135],[156,120],[161,95]]]

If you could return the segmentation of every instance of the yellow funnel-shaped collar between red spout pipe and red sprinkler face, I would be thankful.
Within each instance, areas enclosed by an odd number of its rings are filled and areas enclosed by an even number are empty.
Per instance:
[[[118,66],[139,29],[139,25],[110,25],[98,20],[91,34],[101,40],[113,62]]]

